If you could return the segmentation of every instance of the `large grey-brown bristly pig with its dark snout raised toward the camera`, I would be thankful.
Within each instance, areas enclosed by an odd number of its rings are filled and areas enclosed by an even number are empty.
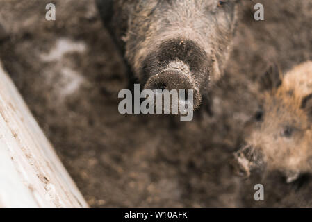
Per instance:
[[[96,0],[146,89],[193,89],[201,104],[229,57],[238,0]]]

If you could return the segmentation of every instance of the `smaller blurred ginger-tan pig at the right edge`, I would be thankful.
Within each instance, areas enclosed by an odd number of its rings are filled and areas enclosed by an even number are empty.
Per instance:
[[[241,176],[279,171],[293,182],[312,173],[312,62],[285,76],[271,67],[261,78],[261,89],[261,110],[247,124],[234,169]]]

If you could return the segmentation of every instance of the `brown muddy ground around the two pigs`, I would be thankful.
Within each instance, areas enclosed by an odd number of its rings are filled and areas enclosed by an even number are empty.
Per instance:
[[[0,58],[91,207],[310,207],[309,176],[243,180],[229,159],[257,109],[254,85],[276,61],[286,71],[312,59],[312,1],[259,0],[265,21],[243,1],[213,116],[190,123],[122,116],[126,68],[90,0],[0,0]],[[56,4],[56,21],[45,19]],[[2,31],[1,31],[2,29]],[[254,185],[265,201],[254,201]]]

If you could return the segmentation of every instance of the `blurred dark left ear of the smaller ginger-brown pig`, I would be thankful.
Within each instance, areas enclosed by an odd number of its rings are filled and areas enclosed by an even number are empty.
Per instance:
[[[260,87],[262,90],[277,89],[281,85],[281,79],[279,66],[276,64],[270,65],[260,78]]]

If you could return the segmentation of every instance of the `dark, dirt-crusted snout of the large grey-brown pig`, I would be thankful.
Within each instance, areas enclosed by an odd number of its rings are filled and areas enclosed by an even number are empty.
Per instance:
[[[192,90],[192,107],[199,107],[208,92],[211,79],[211,59],[192,40],[164,40],[142,62],[145,89]]]

